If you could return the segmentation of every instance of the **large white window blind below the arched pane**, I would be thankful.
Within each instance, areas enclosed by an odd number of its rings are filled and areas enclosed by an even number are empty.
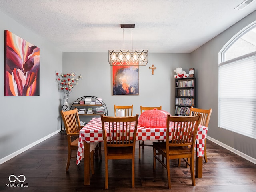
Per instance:
[[[219,64],[218,126],[256,138],[256,55]]]

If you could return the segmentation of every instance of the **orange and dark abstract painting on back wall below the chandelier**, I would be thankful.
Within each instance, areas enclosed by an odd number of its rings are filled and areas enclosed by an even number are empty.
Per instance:
[[[139,66],[113,66],[113,95],[139,95]]]

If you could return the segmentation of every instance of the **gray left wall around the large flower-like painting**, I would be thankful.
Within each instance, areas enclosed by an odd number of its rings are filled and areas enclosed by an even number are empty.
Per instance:
[[[55,71],[62,71],[62,52],[0,12],[0,163],[3,158],[58,130],[60,92]],[[40,48],[40,96],[4,96],[4,30]]]

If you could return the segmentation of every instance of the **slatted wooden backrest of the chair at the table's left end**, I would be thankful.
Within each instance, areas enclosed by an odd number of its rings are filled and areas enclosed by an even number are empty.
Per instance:
[[[77,109],[75,108],[69,111],[61,111],[61,115],[67,134],[79,133],[81,127]]]

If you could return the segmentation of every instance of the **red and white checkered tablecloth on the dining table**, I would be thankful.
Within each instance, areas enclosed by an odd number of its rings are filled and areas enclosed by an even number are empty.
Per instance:
[[[136,140],[165,140],[166,128],[150,128],[138,125]],[[206,138],[208,127],[199,125],[196,135],[196,156],[204,156],[204,139]],[[92,118],[86,126],[79,132],[78,150],[76,157],[76,164],[78,165],[83,158],[84,143],[83,142],[102,142],[102,124],[101,118]],[[91,148],[92,150],[92,148]]]

